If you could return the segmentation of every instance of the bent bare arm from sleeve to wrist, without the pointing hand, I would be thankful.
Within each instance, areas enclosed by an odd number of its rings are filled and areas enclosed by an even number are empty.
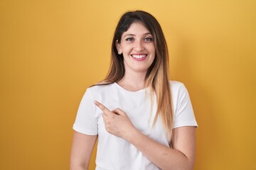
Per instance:
[[[193,169],[196,149],[194,127],[181,127],[173,130],[173,149],[151,140],[136,129],[124,136],[124,139],[137,147],[161,169]]]

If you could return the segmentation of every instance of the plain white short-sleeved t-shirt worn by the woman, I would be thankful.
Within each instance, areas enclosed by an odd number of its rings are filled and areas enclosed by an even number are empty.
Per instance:
[[[178,81],[171,82],[174,109],[174,126],[197,126],[186,87]],[[87,89],[78,108],[73,125],[75,131],[86,135],[98,135],[97,170],[155,170],[159,169],[134,145],[105,130],[102,111],[93,101],[99,101],[111,110],[120,108],[127,113],[132,124],[152,140],[169,147],[161,118],[152,126],[156,114],[156,97],[151,104],[149,88],[127,91],[119,84],[92,86]]]

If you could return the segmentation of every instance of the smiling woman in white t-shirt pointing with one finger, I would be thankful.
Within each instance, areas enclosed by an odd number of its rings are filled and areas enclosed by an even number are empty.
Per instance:
[[[107,78],[82,98],[73,125],[70,169],[193,169],[195,127],[185,86],[169,81],[164,34],[154,16],[131,11],[112,40]]]

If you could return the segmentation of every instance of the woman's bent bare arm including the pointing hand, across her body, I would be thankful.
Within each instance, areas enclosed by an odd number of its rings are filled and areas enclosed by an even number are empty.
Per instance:
[[[132,125],[124,111],[117,108],[109,111],[101,103],[95,104],[103,111],[103,120],[107,132],[122,137],[137,147],[151,162],[161,169],[191,170],[195,161],[195,127],[186,126],[173,130],[173,148],[151,140]]]

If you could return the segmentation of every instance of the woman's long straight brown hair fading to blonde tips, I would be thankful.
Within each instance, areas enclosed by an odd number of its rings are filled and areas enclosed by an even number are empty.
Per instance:
[[[117,23],[112,40],[112,60],[110,70],[104,82],[111,84],[117,82],[124,77],[124,57],[119,55],[116,48],[116,41],[121,42],[122,34],[129,29],[132,23],[142,23],[153,35],[154,45],[156,48],[156,57],[149,67],[145,84],[151,89],[151,98],[153,93],[156,94],[157,111],[154,118],[155,125],[160,115],[164,128],[168,135],[171,135],[173,108],[171,102],[171,87],[169,84],[169,55],[164,33],[161,30],[159,22],[150,13],[145,11],[129,11],[124,13]]]

